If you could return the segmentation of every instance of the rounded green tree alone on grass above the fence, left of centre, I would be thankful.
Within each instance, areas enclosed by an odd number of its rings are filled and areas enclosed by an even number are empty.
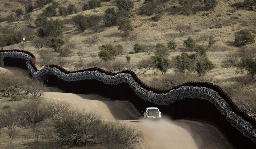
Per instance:
[[[118,50],[111,44],[103,44],[98,46],[98,49],[100,50],[98,56],[105,61],[113,60],[118,55]]]

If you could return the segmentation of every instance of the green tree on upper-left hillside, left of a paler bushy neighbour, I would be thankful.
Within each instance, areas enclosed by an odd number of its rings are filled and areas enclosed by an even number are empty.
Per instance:
[[[85,29],[88,27],[88,23],[87,23],[87,17],[83,16],[83,15],[76,15],[72,18],[75,27],[78,28],[78,31],[80,32],[84,32]]]

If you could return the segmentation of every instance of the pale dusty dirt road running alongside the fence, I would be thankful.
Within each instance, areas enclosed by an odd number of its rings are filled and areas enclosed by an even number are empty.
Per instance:
[[[138,119],[138,112],[131,110],[124,101],[111,101],[98,95],[81,95],[46,92],[52,100],[65,100],[79,110],[95,111],[105,120],[119,120],[136,127],[144,135],[140,149],[230,149],[231,145],[212,125],[187,120],[160,122]],[[126,107],[129,107],[128,109]],[[137,117],[137,118],[136,118]]]

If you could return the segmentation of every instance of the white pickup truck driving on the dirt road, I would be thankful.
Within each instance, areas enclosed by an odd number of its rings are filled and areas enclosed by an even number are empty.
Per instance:
[[[160,120],[161,112],[157,107],[147,107],[143,113],[144,118],[151,120]]]

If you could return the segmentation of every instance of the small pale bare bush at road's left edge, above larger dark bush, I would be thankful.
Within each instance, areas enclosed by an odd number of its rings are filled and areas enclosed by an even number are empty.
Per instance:
[[[71,104],[65,101],[48,101],[46,103],[47,115],[54,123],[69,112]]]

